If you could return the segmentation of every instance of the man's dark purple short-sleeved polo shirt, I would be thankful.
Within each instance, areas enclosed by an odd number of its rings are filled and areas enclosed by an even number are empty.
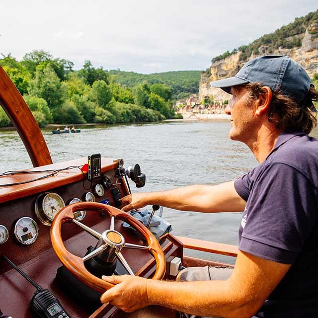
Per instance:
[[[292,264],[256,316],[318,317],[318,140],[283,132],[235,188],[247,202],[239,249]]]

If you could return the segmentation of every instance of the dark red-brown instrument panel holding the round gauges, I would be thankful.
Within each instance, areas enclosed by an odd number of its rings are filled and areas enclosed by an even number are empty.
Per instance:
[[[117,206],[112,189],[122,196],[127,189],[123,179],[116,183],[115,171],[109,170],[101,177],[107,177],[112,185],[106,189],[103,182],[96,180],[90,187],[83,187],[83,181],[75,181],[61,187],[50,188],[27,197],[1,203],[0,205],[0,256],[10,251],[12,260],[19,264],[36,257],[40,252],[51,248],[51,224],[57,213],[66,205],[77,202],[101,202]],[[110,182],[109,182],[110,183]],[[95,192],[97,186],[97,192]],[[108,184],[107,184],[108,186]],[[75,212],[75,218],[92,227],[106,218],[92,211]],[[66,223],[62,227],[64,240],[81,232],[79,227]],[[6,266],[4,266],[6,267]],[[0,274],[8,270],[0,268]]]

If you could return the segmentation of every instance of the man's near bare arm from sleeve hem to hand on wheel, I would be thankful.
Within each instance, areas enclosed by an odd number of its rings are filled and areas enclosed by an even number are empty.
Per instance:
[[[250,318],[290,266],[240,251],[233,274],[226,281],[178,283],[129,275],[103,276],[116,286],[105,292],[101,301],[126,312],[160,305],[192,315]]]

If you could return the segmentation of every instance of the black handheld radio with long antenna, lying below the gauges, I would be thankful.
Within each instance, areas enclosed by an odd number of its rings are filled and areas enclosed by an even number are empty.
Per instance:
[[[2,256],[16,271],[28,280],[37,291],[34,293],[30,305],[36,314],[41,318],[71,318],[63,309],[59,300],[48,289],[43,289],[26,275],[20,268],[12,263],[5,255]]]

